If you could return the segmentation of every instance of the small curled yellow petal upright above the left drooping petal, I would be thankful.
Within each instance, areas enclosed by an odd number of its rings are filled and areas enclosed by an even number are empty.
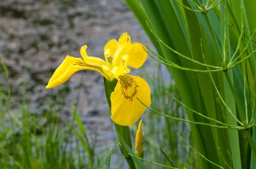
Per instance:
[[[94,65],[94,66],[100,66],[100,67],[102,65],[107,66],[107,64],[104,60],[102,60],[100,58],[96,58],[94,56],[88,56],[86,49],[87,49],[87,45],[82,46],[82,48],[80,49],[80,54],[83,57],[84,62],[86,62],[87,64],[90,64],[90,65]]]

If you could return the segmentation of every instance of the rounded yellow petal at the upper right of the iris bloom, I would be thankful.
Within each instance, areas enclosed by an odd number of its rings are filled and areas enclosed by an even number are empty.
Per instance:
[[[131,52],[129,52],[129,64],[133,68],[139,68],[147,59],[146,48],[143,44],[133,43],[131,44]]]

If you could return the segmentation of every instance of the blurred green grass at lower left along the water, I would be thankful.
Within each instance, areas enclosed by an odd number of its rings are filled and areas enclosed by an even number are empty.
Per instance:
[[[46,106],[42,115],[31,114],[30,107],[26,105],[26,84],[22,103],[15,101],[7,78],[9,72],[3,62],[1,67],[0,168],[103,166],[103,158],[100,158],[101,154],[95,154],[94,145],[89,141],[76,108],[72,107],[72,121],[63,121],[59,115],[59,106],[65,102],[66,91],[52,95],[49,98],[51,104]],[[7,80],[7,91],[3,90],[2,80]]]

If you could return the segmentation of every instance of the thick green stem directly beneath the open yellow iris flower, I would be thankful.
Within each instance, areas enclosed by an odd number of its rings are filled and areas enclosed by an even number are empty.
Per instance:
[[[110,110],[111,110],[110,96],[111,96],[111,93],[113,93],[113,91],[115,91],[116,85],[117,85],[117,80],[113,80],[113,81],[110,82],[110,81],[106,80],[106,78],[104,78],[106,100],[108,101],[108,107],[109,107]],[[119,141],[120,141],[120,137],[122,137],[123,140],[125,141],[125,143],[129,146],[129,148],[132,149],[133,146],[132,146],[132,143],[131,143],[131,134],[130,134],[129,127],[118,125],[115,122],[113,122],[113,123],[115,125],[115,129],[116,129],[117,135],[119,137]],[[121,141],[120,141],[120,143],[121,143],[121,152],[122,152],[123,156],[125,157],[125,160],[129,164],[129,167],[131,169],[136,168],[135,164],[133,162],[133,159],[128,154],[127,150],[124,148]]]

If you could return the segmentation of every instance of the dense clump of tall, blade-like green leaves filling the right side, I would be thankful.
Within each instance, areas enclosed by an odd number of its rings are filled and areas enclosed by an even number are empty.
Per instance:
[[[149,55],[172,74],[188,120],[151,110],[191,124],[199,168],[255,168],[256,3],[126,2],[158,51]]]

